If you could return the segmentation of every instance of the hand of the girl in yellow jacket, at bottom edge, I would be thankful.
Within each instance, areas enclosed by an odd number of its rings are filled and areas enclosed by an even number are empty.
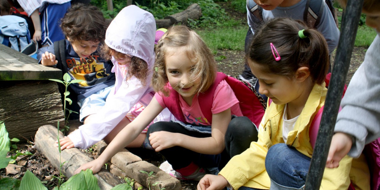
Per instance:
[[[211,175],[206,174],[199,180],[198,185],[196,186],[197,190],[217,190],[223,189],[228,185],[228,181],[221,175]]]

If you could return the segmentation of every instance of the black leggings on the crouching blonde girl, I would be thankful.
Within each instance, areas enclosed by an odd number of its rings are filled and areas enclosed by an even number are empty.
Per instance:
[[[204,134],[195,131],[189,131],[178,123],[174,122],[156,122],[148,128],[147,137],[150,133],[156,131],[168,131],[172,133],[181,133],[184,135],[206,138],[211,134]],[[222,169],[227,162],[237,154],[241,154],[249,148],[252,141],[257,141],[257,130],[255,125],[247,117],[234,117],[228,125],[225,135],[225,149],[217,155],[207,155],[194,152],[184,147],[174,146],[161,150],[160,153],[168,160],[173,169],[180,169],[194,162],[202,168],[218,167]]]

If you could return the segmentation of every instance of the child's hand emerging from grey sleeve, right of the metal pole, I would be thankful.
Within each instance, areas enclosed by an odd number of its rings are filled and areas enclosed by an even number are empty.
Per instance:
[[[332,136],[326,167],[337,168],[339,161],[348,154],[352,146],[352,139],[345,133],[335,133]]]

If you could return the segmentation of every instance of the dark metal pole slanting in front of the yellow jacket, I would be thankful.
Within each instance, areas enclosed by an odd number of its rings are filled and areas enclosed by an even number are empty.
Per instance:
[[[363,0],[348,0],[337,47],[334,68],[326,95],[321,125],[318,131],[309,173],[306,178],[305,189],[316,190],[320,188],[323,172],[325,171],[327,155],[331,138],[334,133],[336,117],[339,110],[343,87],[350,67],[352,49],[358,30]]]

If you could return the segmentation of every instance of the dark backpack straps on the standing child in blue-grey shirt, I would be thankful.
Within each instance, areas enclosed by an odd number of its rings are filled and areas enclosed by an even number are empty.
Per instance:
[[[310,28],[317,28],[317,25],[320,22],[319,14],[322,12],[321,10],[325,7],[322,4],[323,0],[307,0],[306,7],[304,10],[304,22]],[[334,17],[335,24],[338,26],[338,20],[336,17],[336,11],[333,6],[332,0],[325,0],[325,3],[330,9],[332,17]],[[256,19],[253,21],[255,25],[260,25],[263,19],[263,8],[258,6],[253,0],[247,0],[247,8],[250,12],[255,15]]]

